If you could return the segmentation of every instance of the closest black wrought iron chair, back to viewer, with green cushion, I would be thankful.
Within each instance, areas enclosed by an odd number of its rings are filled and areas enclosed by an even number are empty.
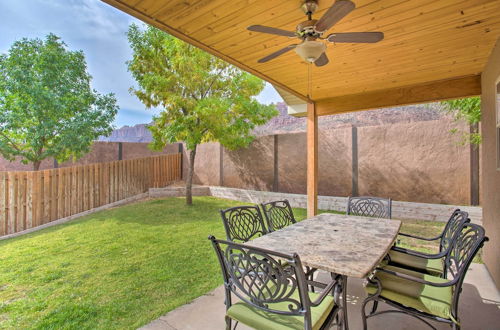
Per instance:
[[[226,329],[233,320],[235,328],[241,322],[255,329],[328,329],[333,323],[336,280],[321,294],[311,293],[297,254],[209,239],[224,279]],[[232,295],[241,301],[233,304]]]

